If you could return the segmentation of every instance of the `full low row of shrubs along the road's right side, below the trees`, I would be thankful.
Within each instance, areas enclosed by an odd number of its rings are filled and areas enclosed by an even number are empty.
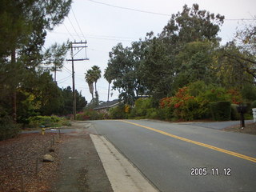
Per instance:
[[[237,90],[225,90],[198,81],[178,89],[172,97],[162,98],[158,106],[155,106],[154,98],[138,98],[134,106],[118,106],[110,110],[110,118],[152,118],[166,121],[239,120],[237,107],[243,100],[245,98]],[[249,100],[244,104],[246,119],[251,119],[254,105]],[[127,107],[129,110],[126,110]]]

